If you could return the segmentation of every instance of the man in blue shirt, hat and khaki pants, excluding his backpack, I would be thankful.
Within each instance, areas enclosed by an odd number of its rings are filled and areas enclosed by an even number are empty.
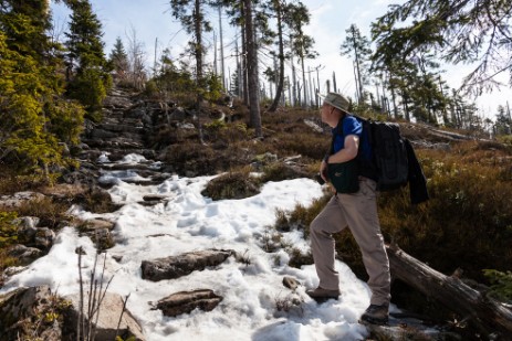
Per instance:
[[[349,115],[348,106],[349,102],[344,96],[328,93],[321,108],[322,121],[333,129],[331,151],[320,167],[321,177],[332,182],[330,178],[342,174],[339,181],[349,183],[345,193],[336,190],[336,194],[311,223],[311,248],[320,285],[316,289],[306,290],[306,294],[317,301],[338,298],[339,281],[334,267],[335,242],[332,234],[348,227],[363,254],[372,290],[370,305],[361,319],[382,324],[388,320],[389,260],[377,216],[376,175],[364,162],[365,158],[369,160],[370,147],[363,134],[362,124]],[[363,160],[356,159],[358,149]],[[344,170],[335,174],[330,171],[337,166],[351,163],[357,167],[352,180],[343,177],[347,175]],[[349,177],[351,171],[347,173]]]

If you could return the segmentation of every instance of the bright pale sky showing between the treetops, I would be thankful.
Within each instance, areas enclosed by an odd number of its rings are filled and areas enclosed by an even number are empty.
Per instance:
[[[116,38],[121,38],[127,46],[127,36],[136,38],[143,42],[146,50],[146,65],[148,71],[153,68],[155,55],[157,60],[165,49],[169,49],[171,56],[178,58],[184,51],[188,36],[170,14],[170,6],[165,0],[90,0],[93,10],[98,15],[105,32],[104,42],[107,54],[112,51]],[[362,33],[367,38],[370,36],[370,23],[376,18],[384,15],[391,3],[404,3],[405,0],[303,0],[302,1],[311,12],[311,23],[305,28],[305,33],[315,40],[315,51],[318,57],[306,62],[306,68],[311,70],[311,75],[317,77],[321,83],[321,93],[325,94],[326,79],[336,75],[337,89],[349,96],[355,97],[355,81],[352,67],[352,60],[348,56],[341,56],[339,45],[345,40],[345,30],[351,24],[356,24]],[[52,11],[58,31],[64,30],[69,11],[63,4],[52,3]],[[217,10],[208,12],[208,19],[211,21],[213,33],[206,34],[206,43],[213,46],[215,42],[219,43],[219,15]],[[234,43],[236,32],[229,28],[228,18],[222,14],[223,46],[224,46],[224,65],[226,76],[231,75],[234,67]],[[217,49],[220,51],[220,49]],[[220,58],[220,52],[219,56]],[[207,55],[207,61],[213,62],[213,53]],[[219,70],[220,70],[220,63]],[[263,61],[260,70],[273,66],[272,62]],[[290,68],[290,63],[288,64]],[[317,73],[316,73],[317,70]],[[447,66],[443,78],[448,84],[458,88],[461,79],[471,70],[468,65]],[[288,72],[290,75],[291,72]],[[309,76],[306,76],[309,77]],[[506,77],[499,78],[506,84]],[[332,84],[332,82],[331,82]],[[332,85],[331,85],[331,89]],[[374,89],[370,88],[374,93]],[[506,100],[512,99],[512,89],[510,86],[501,90],[494,90],[492,94],[484,94],[476,98],[479,109],[487,117],[494,118],[498,105],[505,105]]]

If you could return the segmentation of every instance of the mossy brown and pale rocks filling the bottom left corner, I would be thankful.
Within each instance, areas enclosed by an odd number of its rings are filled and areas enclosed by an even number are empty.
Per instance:
[[[48,286],[8,292],[0,296],[0,340],[74,341],[77,335],[77,295],[62,298]],[[126,310],[119,295],[107,292],[97,320],[96,316],[91,320],[97,341],[112,341],[116,335],[123,340],[145,340],[140,324]],[[88,326],[86,319],[85,326]]]

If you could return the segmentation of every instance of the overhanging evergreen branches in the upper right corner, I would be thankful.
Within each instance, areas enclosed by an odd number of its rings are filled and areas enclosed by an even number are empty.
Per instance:
[[[449,63],[476,63],[464,86],[481,94],[508,72],[512,84],[510,1],[408,0],[374,23],[374,38],[403,60],[431,51]]]

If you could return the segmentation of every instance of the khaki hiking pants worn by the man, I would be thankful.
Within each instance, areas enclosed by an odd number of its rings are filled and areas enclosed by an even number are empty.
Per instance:
[[[335,243],[333,233],[348,227],[363,254],[368,273],[372,305],[388,305],[390,300],[389,260],[384,246],[377,215],[375,181],[359,180],[359,191],[353,194],[334,195],[310,226],[311,248],[320,286],[336,290],[338,273],[334,268]]]

